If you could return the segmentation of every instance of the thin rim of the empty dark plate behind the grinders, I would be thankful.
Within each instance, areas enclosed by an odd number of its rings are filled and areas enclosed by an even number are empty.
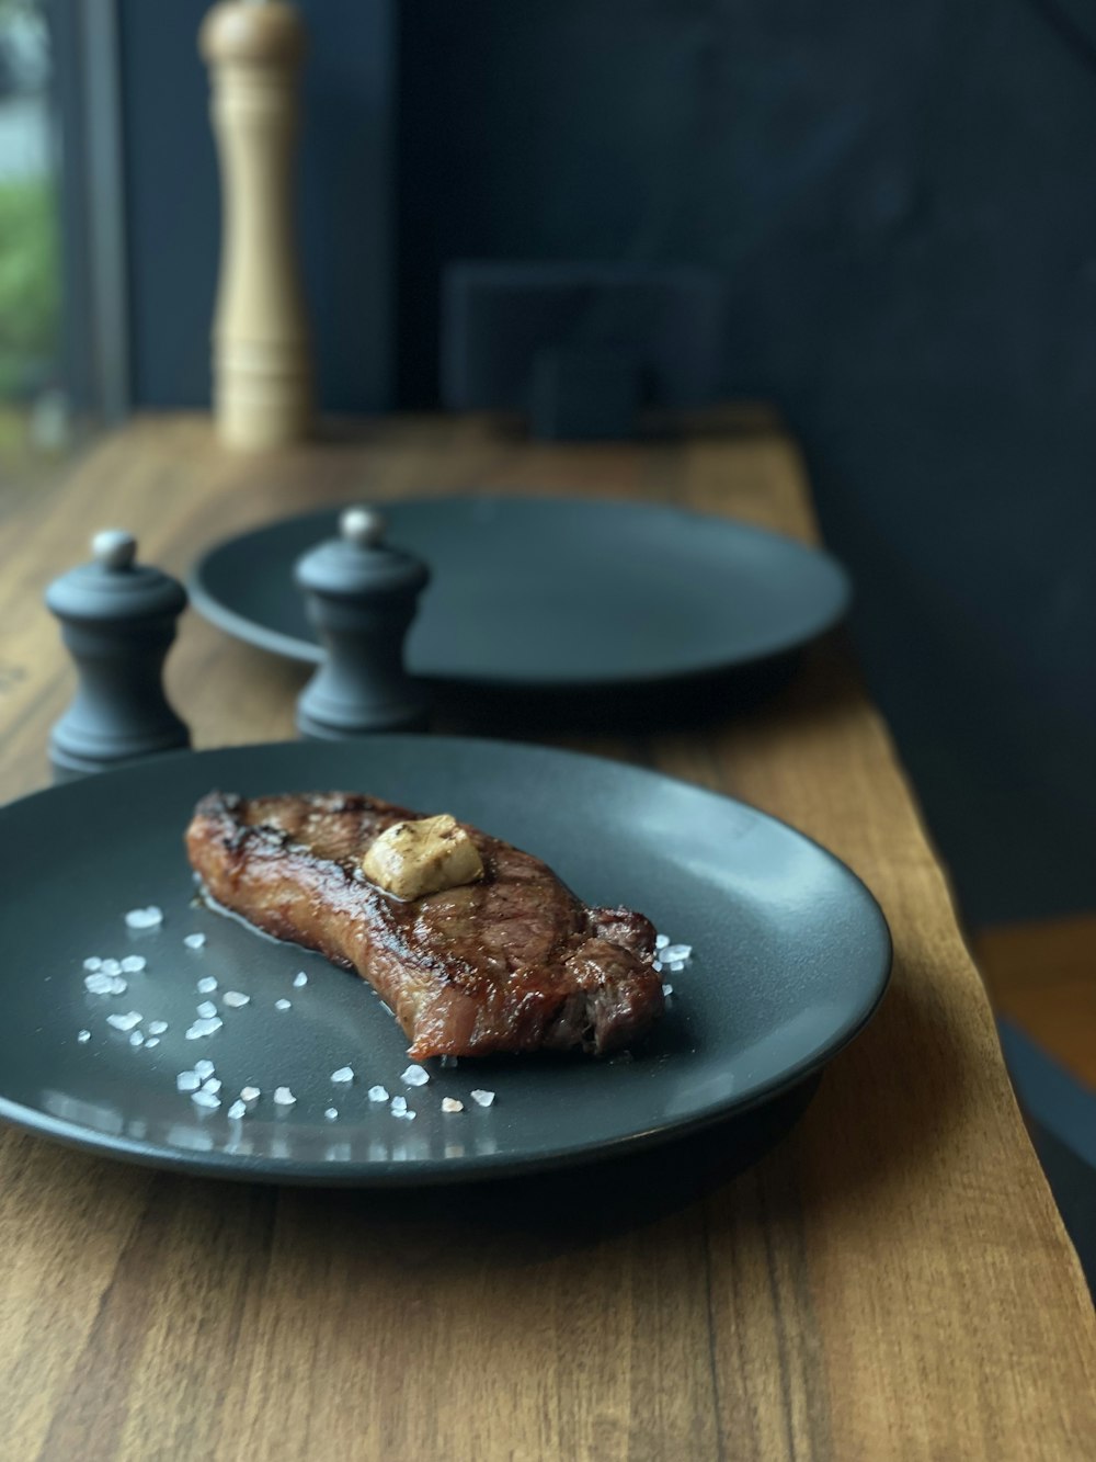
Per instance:
[[[751,665],[760,665],[766,661],[776,659],[780,655],[791,654],[805,645],[813,643],[820,639],[834,626],[840,624],[849,614],[853,599],[852,579],[845,567],[845,564],[836,558],[827,548],[821,544],[805,544],[791,534],[779,532],[773,528],[763,528],[758,523],[742,522],[738,518],[723,516],[722,513],[704,513],[693,507],[682,507],[678,503],[633,503],[620,501],[612,497],[596,497],[596,496],[577,496],[577,494],[549,494],[549,493],[437,493],[425,497],[396,497],[396,499],[377,499],[376,506],[378,509],[390,507],[424,507],[435,503],[533,503],[538,506],[563,504],[577,509],[585,507],[609,507],[620,509],[633,513],[668,513],[672,516],[700,519],[707,523],[716,523],[722,529],[728,529],[734,534],[747,538],[763,538],[773,539],[785,548],[798,551],[811,560],[826,566],[827,572],[831,575],[834,588],[834,602],[827,610],[826,614],[817,617],[815,627],[807,635],[785,636],[775,640],[770,648],[756,651],[750,655],[739,655],[735,659],[726,659],[726,656],[719,656],[715,659],[697,661],[687,668],[677,671],[662,671],[658,674],[646,675],[579,675],[573,678],[566,677],[536,677],[523,678],[520,675],[446,675],[443,673],[430,673],[421,678],[428,683],[437,684],[457,684],[457,686],[484,686],[495,690],[551,690],[551,692],[582,692],[596,687],[605,687],[606,690],[624,689],[624,687],[650,687],[659,689],[666,686],[675,686],[681,681],[703,678],[704,675],[715,675],[720,673],[729,673],[735,670],[745,670]],[[218,539],[208,548],[203,548],[200,556],[194,560],[186,573],[186,588],[190,595],[190,602],[194,605],[197,613],[208,620],[215,629],[222,630],[232,639],[240,640],[244,645],[250,645],[254,649],[262,649],[266,654],[278,655],[283,659],[291,659],[298,665],[319,665],[323,659],[323,652],[319,645],[311,640],[297,639],[292,635],[285,635],[282,630],[270,629],[266,624],[260,624],[257,620],[248,618],[246,614],[238,613],[238,610],[231,608],[221,599],[208,583],[209,564],[216,558],[218,554],[224,553],[227,548],[232,548],[248,538],[257,538],[262,534],[272,532],[273,529],[288,526],[289,523],[305,522],[307,519],[327,518],[332,513],[338,513],[346,507],[348,503],[339,501],[335,504],[326,504],[323,507],[308,509],[302,513],[291,513],[285,518],[275,518],[269,522],[259,523],[253,528],[244,529],[243,532],[229,534],[225,538]]]

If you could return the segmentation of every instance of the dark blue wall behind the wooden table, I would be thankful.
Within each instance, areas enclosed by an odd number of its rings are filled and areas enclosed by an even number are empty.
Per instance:
[[[326,404],[383,404],[393,339],[435,399],[449,259],[723,270],[726,389],[804,442],[975,920],[1096,895],[1096,63],[1048,3],[403,0],[397,70],[384,0],[304,6]],[[203,7],[123,0],[156,404],[206,390]]]

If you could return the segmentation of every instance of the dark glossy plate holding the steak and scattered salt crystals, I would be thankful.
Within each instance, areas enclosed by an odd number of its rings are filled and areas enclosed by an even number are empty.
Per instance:
[[[665,1020],[630,1060],[431,1061],[430,1083],[406,1088],[403,1037],[368,985],[194,902],[181,835],[215,787],[361,788],[453,811],[542,855],[587,901],[643,909],[694,958],[665,977]],[[868,890],[792,829],[650,772],[501,741],[243,747],[91,776],[0,810],[0,1116],[118,1158],[283,1183],[460,1181],[662,1142],[820,1069],[865,1023],[890,965]],[[162,925],[132,933],[124,914],[148,905]],[[190,933],[206,934],[203,949],[184,944]],[[88,956],[126,955],[148,965],[124,994],[85,990]],[[208,975],[218,990],[203,997]],[[250,1004],[187,1039],[197,1003],[229,990]],[[126,1012],[145,1031],[168,1022],[155,1048],[107,1023]],[[224,1082],[215,1111],[175,1089],[200,1058]],[[333,1086],[346,1064],[354,1085]],[[231,1121],[248,1083],[262,1098]],[[371,1104],[373,1083],[406,1095],[416,1117]],[[289,1110],[272,1101],[281,1085],[297,1096]],[[476,1107],[473,1088],[494,1091],[494,1105]],[[443,1114],[443,1096],[466,1110]]]

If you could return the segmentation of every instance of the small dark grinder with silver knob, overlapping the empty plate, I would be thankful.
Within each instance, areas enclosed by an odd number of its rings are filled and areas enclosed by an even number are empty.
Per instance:
[[[403,642],[430,569],[390,548],[384,526],[373,509],[348,507],[339,537],[297,560],[294,577],[327,652],[297,700],[302,735],[425,730],[427,693],[408,675]]]

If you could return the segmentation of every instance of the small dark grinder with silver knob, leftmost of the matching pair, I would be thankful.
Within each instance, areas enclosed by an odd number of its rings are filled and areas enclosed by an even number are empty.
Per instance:
[[[132,534],[107,529],[92,538],[91,550],[91,563],[45,591],[80,677],[75,700],[50,732],[58,782],[190,746],[162,684],[175,621],[187,604],[183,585],[134,563]]]

